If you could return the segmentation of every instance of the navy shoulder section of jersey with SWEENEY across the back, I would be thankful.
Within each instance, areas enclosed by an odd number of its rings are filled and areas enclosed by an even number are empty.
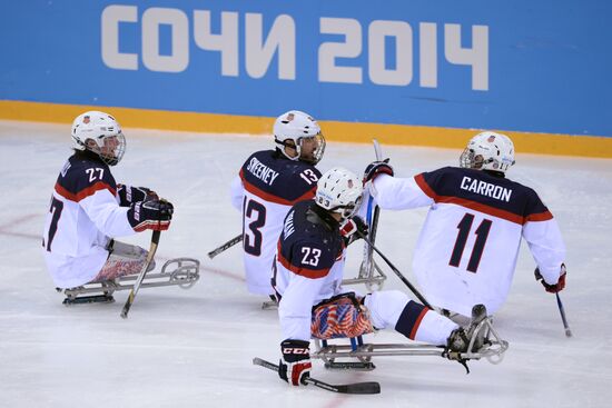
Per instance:
[[[257,190],[289,202],[314,193],[320,177],[314,166],[289,160],[275,150],[253,153],[243,165],[240,173],[243,181]]]

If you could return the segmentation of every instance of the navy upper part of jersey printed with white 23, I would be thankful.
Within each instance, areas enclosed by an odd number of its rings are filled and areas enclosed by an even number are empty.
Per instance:
[[[280,256],[295,268],[329,270],[342,255],[344,241],[337,221],[322,218],[314,200],[296,203],[283,225]]]

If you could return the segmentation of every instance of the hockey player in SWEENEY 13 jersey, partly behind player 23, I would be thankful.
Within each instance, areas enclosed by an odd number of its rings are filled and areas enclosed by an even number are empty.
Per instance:
[[[231,202],[243,217],[247,289],[272,297],[272,265],[283,219],[297,201],[315,195],[325,138],[308,113],[290,110],[274,123],[276,149],[249,156],[231,183]],[[273,298],[274,299],[274,298]]]

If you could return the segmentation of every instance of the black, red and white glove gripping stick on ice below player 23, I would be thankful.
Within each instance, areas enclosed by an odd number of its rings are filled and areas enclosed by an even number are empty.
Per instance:
[[[292,386],[306,386],[310,377],[310,348],[304,340],[285,340],[280,344],[283,358],[278,364],[278,377]]]

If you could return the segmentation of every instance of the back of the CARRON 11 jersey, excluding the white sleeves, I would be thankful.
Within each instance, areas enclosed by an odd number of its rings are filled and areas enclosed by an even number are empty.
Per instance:
[[[486,171],[447,167],[415,177],[434,200],[413,267],[433,305],[470,316],[503,303],[514,275],[523,226],[552,215],[534,190]]]

